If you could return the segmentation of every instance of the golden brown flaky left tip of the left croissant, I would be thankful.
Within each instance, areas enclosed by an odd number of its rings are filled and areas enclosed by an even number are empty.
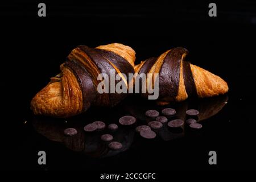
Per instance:
[[[31,101],[36,115],[69,117],[82,111],[82,92],[73,73],[61,65],[61,81],[49,83]]]

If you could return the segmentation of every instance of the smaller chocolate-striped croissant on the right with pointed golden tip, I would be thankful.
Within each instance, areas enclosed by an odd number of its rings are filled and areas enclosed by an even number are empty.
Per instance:
[[[228,85],[222,78],[185,61],[187,53],[187,49],[177,47],[135,65],[136,73],[159,73],[158,104],[183,101],[190,96],[203,98],[228,92]]]

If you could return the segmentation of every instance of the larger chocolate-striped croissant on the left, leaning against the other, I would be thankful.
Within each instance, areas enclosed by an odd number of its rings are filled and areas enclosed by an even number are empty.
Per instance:
[[[61,73],[51,78],[31,101],[34,114],[52,117],[70,117],[80,114],[90,106],[113,106],[118,104],[125,93],[97,92],[101,82],[98,74],[110,76],[110,70],[119,75],[127,85],[128,73],[134,73],[135,51],[123,44],[113,43],[96,48],[78,46],[60,65]],[[119,82],[115,80],[115,84]]]

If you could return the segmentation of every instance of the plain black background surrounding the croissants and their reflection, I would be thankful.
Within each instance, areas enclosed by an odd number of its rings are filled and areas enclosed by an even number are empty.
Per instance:
[[[1,2],[1,169],[255,169],[255,1],[216,2],[212,18],[209,1],[43,2],[47,16],[41,18],[39,2]],[[103,160],[76,154],[23,125],[32,114],[31,98],[59,73],[72,48],[113,42],[135,49],[136,63],[187,48],[192,64],[228,82],[229,104],[200,137],[146,143]],[[37,164],[39,150],[48,152],[47,166]],[[208,164],[210,150],[217,151],[217,166]]]

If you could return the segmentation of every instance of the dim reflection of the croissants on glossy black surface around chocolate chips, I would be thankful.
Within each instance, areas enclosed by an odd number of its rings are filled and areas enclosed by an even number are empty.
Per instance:
[[[217,114],[222,107],[228,104],[228,96],[220,96],[214,98],[207,98],[196,101],[184,101],[176,104],[158,106],[154,101],[143,100],[142,98],[127,98],[118,106],[108,108],[92,108],[85,114],[68,119],[56,119],[49,117],[36,117],[32,118],[31,122],[35,130],[49,140],[63,143],[64,146],[70,148],[72,151],[82,152],[88,156],[106,157],[119,154],[119,152],[128,150],[131,145],[136,145],[137,142],[143,142],[146,139],[139,139],[139,134],[135,135],[135,127],[139,125],[147,125],[148,122],[155,119],[149,119],[145,116],[145,112],[149,109],[161,110],[167,107],[172,107],[176,110],[176,114],[168,117],[168,121],[172,119],[183,119],[184,126],[179,129],[170,129],[167,123],[158,130],[154,130],[158,138],[154,140],[170,141],[172,139],[190,136],[192,134],[200,133],[190,129],[185,124],[188,117],[185,111],[188,109],[198,109],[199,115],[196,117],[197,122],[207,121],[208,118]],[[122,126],[118,123],[118,119],[123,115],[133,115],[137,118],[137,123],[131,126]],[[111,131],[107,127],[101,131],[85,132],[84,126],[94,121],[104,121],[106,125],[116,123],[119,125],[118,130]],[[26,123],[28,125],[28,123]],[[78,134],[73,137],[67,137],[63,131],[73,127],[78,131]],[[123,147],[121,150],[112,151],[108,148],[109,142],[102,142],[100,137],[102,134],[112,134],[114,141],[121,142]],[[134,139],[135,138],[135,139]],[[138,141],[137,141],[138,140]],[[144,141],[150,144],[150,141]],[[154,142],[154,141],[153,141]],[[135,143],[135,144],[134,144]],[[166,143],[168,145],[168,143]]]

